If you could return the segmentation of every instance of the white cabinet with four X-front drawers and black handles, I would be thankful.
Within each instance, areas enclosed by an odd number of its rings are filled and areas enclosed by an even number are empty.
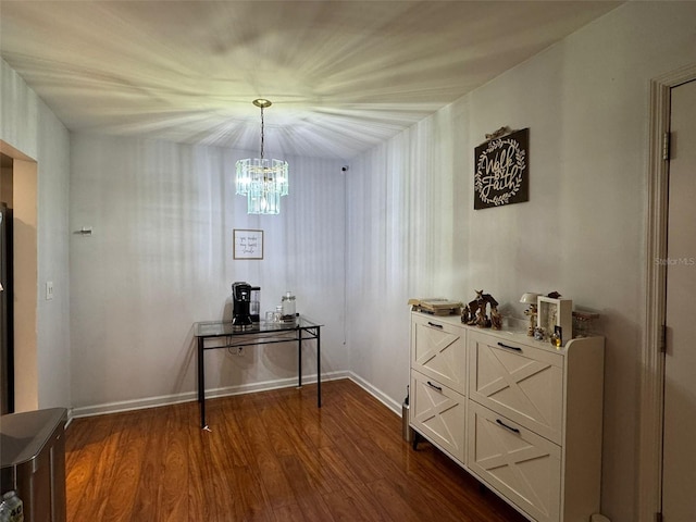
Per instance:
[[[411,426],[530,520],[599,512],[602,393],[602,337],[555,348],[411,314]]]

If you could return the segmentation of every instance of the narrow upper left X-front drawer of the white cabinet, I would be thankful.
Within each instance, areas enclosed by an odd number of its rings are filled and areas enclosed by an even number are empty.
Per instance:
[[[467,393],[467,328],[427,315],[411,321],[411,368]]]

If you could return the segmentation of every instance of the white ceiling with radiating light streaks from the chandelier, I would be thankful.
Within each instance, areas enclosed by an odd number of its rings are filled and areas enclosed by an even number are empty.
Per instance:
[[[350,159],[609,1],[8,1],[0,52],[77,132]]]

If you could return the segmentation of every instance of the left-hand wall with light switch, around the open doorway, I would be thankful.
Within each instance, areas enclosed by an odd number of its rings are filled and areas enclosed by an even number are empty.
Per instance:
[[[37,284],[34,407],[70,407],[69,133],[24,80],[0,60],[0,140],[36,161]],[[16,188],[15,188],[16,190]],[[16,260],[22,262],[22,260]],[[45,299],[52,281],[54,299]],[[22,318],[18,318],[22,320]],[[22,347],[17,347],[22,349]],[[20,376],[17,376],[20,378]]]

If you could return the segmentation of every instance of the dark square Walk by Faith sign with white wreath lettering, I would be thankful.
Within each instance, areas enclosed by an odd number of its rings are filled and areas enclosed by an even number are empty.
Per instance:
[[[474,209],[521,203],[530,199],[529,136],[507,127],[486,135],[474,149]]]

